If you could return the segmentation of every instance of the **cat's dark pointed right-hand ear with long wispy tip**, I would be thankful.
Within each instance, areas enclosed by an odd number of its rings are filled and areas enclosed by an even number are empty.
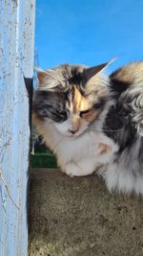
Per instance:
[[[94,76],[96,76],[98,73],[103,71],[107,66],[109,66],[115,59],[116,58],[113,58],[112,60],[110,60],[108,62],[85,69],[84,76],[85,76],[86,81],[90,81]]]

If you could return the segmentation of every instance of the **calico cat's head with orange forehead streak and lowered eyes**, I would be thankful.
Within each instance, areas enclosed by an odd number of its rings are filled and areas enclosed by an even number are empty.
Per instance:
[[[86,67],[60,65],[38,70],[33,112],[39,121],[49,124],[65,136],[82,134],[97,120],[109,102],[108,79],[102,75],[107,63]]]

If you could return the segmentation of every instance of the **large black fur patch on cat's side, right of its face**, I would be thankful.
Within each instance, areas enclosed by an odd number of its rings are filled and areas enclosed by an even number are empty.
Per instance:
[[[140,96],[137,92],[137,87],[136,93],[132,93],[130,85],[130,83],[117,80],[115,73],[112,74],[112,95],[116,104],[111,107],[103,130],[119,145],[119,152],[125,149],[130,150],[137,139],[140,139],[137,127],[141,123],[139,116],[143,117],[143,107],[136,105]],[[134,117],[136,118],[135,122]]]

